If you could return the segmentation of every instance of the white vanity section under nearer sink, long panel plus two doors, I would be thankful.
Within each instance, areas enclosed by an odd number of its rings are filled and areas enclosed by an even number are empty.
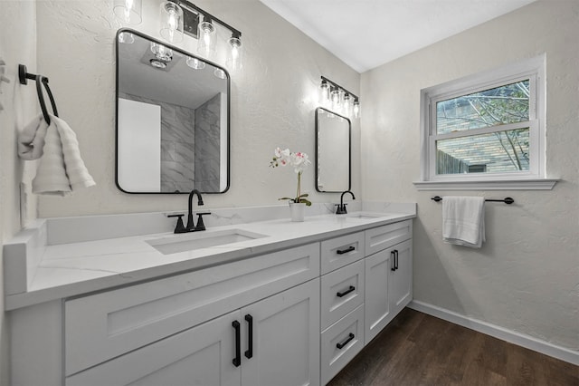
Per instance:
[[[317,385],[318,275],[315,243],[66,301],[65,384]]]

